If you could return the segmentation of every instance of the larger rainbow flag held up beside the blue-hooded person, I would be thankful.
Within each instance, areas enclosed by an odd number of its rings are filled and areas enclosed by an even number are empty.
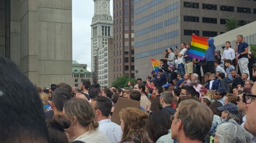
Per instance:
[[[203,56],[208,47],[207,38],[197,36],[195,34],[192,35],[192,41],[190,44],[190,50],[187,54],[192,58],[196,58],[198,60],[204,60]]]

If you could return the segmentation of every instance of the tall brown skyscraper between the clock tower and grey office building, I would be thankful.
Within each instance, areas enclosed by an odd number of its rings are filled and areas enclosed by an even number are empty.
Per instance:
[[[114,80],[134,77],[134,1],[113,0]]]

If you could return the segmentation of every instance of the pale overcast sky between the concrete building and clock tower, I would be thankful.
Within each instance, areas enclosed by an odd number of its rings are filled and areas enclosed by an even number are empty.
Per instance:
[[[113,0],[110,1],[110,13],[113,16]],[[94,14],[93,0],[72,1],[72,48],[73,60],[87,64],[91,71],[91,23]]]

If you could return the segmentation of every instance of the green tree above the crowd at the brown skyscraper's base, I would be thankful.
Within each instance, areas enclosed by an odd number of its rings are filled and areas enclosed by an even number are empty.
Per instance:
[[[128,75],[124,74],[116,78],[116,80],[112,83],[112,87],[124,88],[128,87],[128,81],[131,81],[133,85],[137,82],[136,79],[129,77]]]

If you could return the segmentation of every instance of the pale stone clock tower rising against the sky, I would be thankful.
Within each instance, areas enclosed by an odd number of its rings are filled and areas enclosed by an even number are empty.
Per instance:
[[[99,49],[108,45],[108,38],[113,38],[113,19],[110,14],[110,0],[94,0],[94,15],[91,24],[92,72],[97,72]]]

